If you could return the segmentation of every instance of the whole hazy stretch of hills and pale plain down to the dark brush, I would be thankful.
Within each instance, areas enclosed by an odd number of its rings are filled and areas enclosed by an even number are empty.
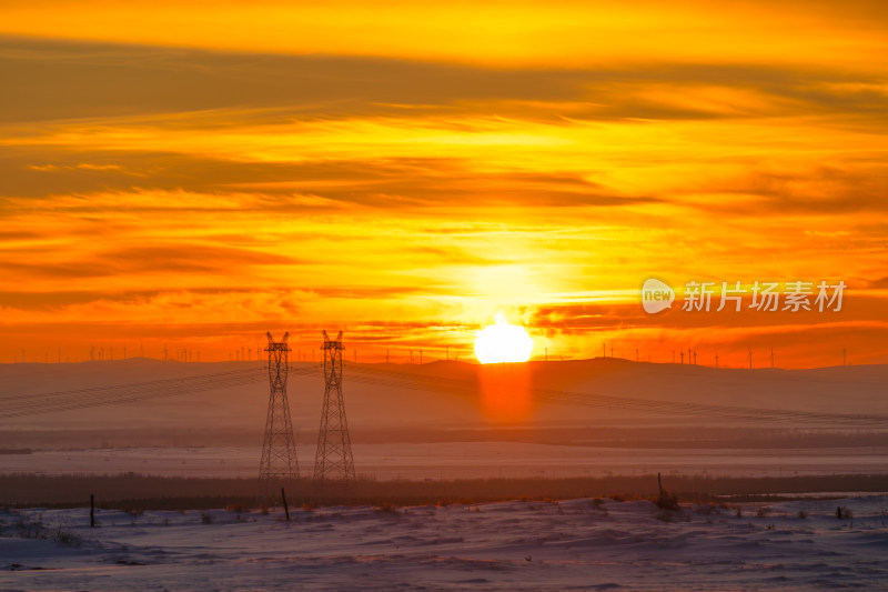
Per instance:
[[[887,378],[880,365],[347,363],[343,393],[357,472],[377,479],[842,474],[888,472]],[[148,391],[101,390],[149,380]],[[294,363],[289,382],[310,476],[321,369]],[[0,472],[256,474],[261,363],[11,364],[0,367],[0,446],[32,449],[0,456]]]

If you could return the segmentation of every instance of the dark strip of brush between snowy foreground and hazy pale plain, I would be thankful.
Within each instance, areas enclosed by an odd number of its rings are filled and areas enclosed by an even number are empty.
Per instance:
[[[664,486],[679,501],[736,501],[778,494],[817,492],[888,492],[888,475],[804,475],[708,478],[664,475]],[[0,504],[18,506],[82,506],[90,494],[104,508],[206,509],[255,508],[256,479],[198,479],[123,473],[115,475],[0,475]],[[571,499],[589,496],[645,498],[657,493],[657,475],[572,479],[467,479],[454,481],[359,480],[347,488],[321,490],[310,480],[287,490],[293,505],[471,503],[511,499]]]

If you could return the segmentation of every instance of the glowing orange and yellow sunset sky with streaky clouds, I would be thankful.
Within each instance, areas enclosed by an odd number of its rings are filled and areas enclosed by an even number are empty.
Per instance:
[[[0,362],[470,359],[504,312],[535,358],[888,363],[888,4],[777,4],[0,2]]]

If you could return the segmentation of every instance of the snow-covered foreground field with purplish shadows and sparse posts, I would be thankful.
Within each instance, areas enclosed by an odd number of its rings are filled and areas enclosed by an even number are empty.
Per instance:
[[[290,523],[147,512],[134,524],[101,511],[97,529],[84,509],[0,511],[0,589],[888,589],[888,496],[761,508],[663,514],[584,499],[295,510]]]

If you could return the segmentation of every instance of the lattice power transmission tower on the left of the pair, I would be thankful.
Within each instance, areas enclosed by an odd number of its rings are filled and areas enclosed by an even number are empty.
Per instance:
[[[282,486],[295,489],[299,480],[299,461],[296,460],[296,441],[293,438],[293,423],[290,421],[290,403],[286,399],[286,374],[290,345],[284,333],[281,341],[269,338],[269,415],[265,420],[265,439],[262,444],[262,460],[259,464],[260,495],[265,500],[274,499]]]

